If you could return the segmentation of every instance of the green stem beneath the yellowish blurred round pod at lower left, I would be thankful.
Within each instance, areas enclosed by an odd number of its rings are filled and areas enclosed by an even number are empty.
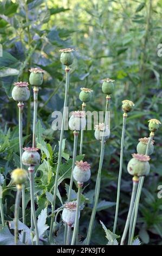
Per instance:
[[[20,209],[20,199],[21,199],[21,185],[17,185],[17,193],[16,193],[16,200],[15,200],[15,245],[18,243],[18,218],[19,218],[19,209]]]

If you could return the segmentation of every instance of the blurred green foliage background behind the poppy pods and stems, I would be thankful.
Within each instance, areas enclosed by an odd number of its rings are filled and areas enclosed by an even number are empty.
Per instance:
[[[38,119],[44,128],[44,140],[50,143],[53,149],[56,145],[57,152],[60,132],[51,130],[51,113],[55,110],[62,111],[63,107],[65,77],[59,49],[75,48],[75,60],[70,72],[70,111],[81,109],[81,87],[94,91],[92,101],[87,104],[87,110],[104,110],[105,95],[101,91],[101,79],[110,77],[115,80],[115,93],[111,99],[111,138],[106,144],[102,168],[101,207],[96,215],[92,236],[92,243],[105,244],[105,233],[99,220],[112,230],[115,206],[109,202],[116,200],[122,130],[121,101],[131,100],[135,107],[127,119],[116,230],[119,235],[124,230],[132,189],[132,177],[126,170],[127,163],[131,154],[136,152],[138,138],[148,137],[147,121],[151,118],[162,121],[162,57],[158,56],[158,45],[162,43],[162,1],[3,0],[0,1],[0,7],[0,39],[3,46],[3,57],[0,57],[0,166],[1,173],[7,179],[4,186],[9,183],[10,171],[17,166],[19,154],[18,109],[11,99],[14,82],[28,81],[30,67],[40,66],[46,71],[38,95]],[[24,144],[28,146],[31,145],[32,118],[31,91],[31,102],[25,104],[23,120],[23,133],[27,136]],[[66,131],[64,137],[67,138],[64,151],[72,156],[73,133]],[[162,243],[162,199],[157,197],[157,187],[162,184],[161,138],[160,129],[154,138],[151,173],[144,182],[135,230],[142,243],[150,245]],[[81,217],[80,234],[84,236],[93,206],[100,155],[100,143],[95,141],[94,131],[85,132],[83,154],[85,160],[92,164],[92,178],[85,190],[89,200]],[[53,155],[53,161],[55,157],[57,158],[56,153]],[[53,180],[40,182],[43,192],[37,197],[38,212],[39,207],[41,209],[42,205],[47,203],[44,189],[50,188]],[[13,217],[14,198],[11,189],[4,189],[5,215],[10,220]],[[39,191],[37,193],[39,194]],[[66,200],[64,181],[60,186],[60,193]]]

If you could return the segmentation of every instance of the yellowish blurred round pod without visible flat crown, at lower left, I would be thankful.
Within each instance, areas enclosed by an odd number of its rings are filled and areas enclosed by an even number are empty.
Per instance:
[[[15,184],[21,185],[27,180],[27,171],[21,168],[17,168],[12,171],[11,179]]]

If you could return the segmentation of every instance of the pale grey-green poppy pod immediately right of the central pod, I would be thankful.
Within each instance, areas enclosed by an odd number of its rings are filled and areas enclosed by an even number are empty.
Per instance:
[[[105,127],[103,123],[102,124],[99,123],[98,125],[95,125],[94,136],[99,141],[102,141],[102,137],[105,137],[105,141],[107,141],[107,139],[110,136],[110,131],[108,129],[108,126]]]

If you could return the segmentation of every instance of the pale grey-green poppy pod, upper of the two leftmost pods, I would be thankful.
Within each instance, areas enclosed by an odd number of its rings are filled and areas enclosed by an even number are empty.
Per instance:
[[[12,90],[12,98],[15,101],[27,101],[30,97],[30,90],[28,88],[29,83],[27,82],[16,82]]]

